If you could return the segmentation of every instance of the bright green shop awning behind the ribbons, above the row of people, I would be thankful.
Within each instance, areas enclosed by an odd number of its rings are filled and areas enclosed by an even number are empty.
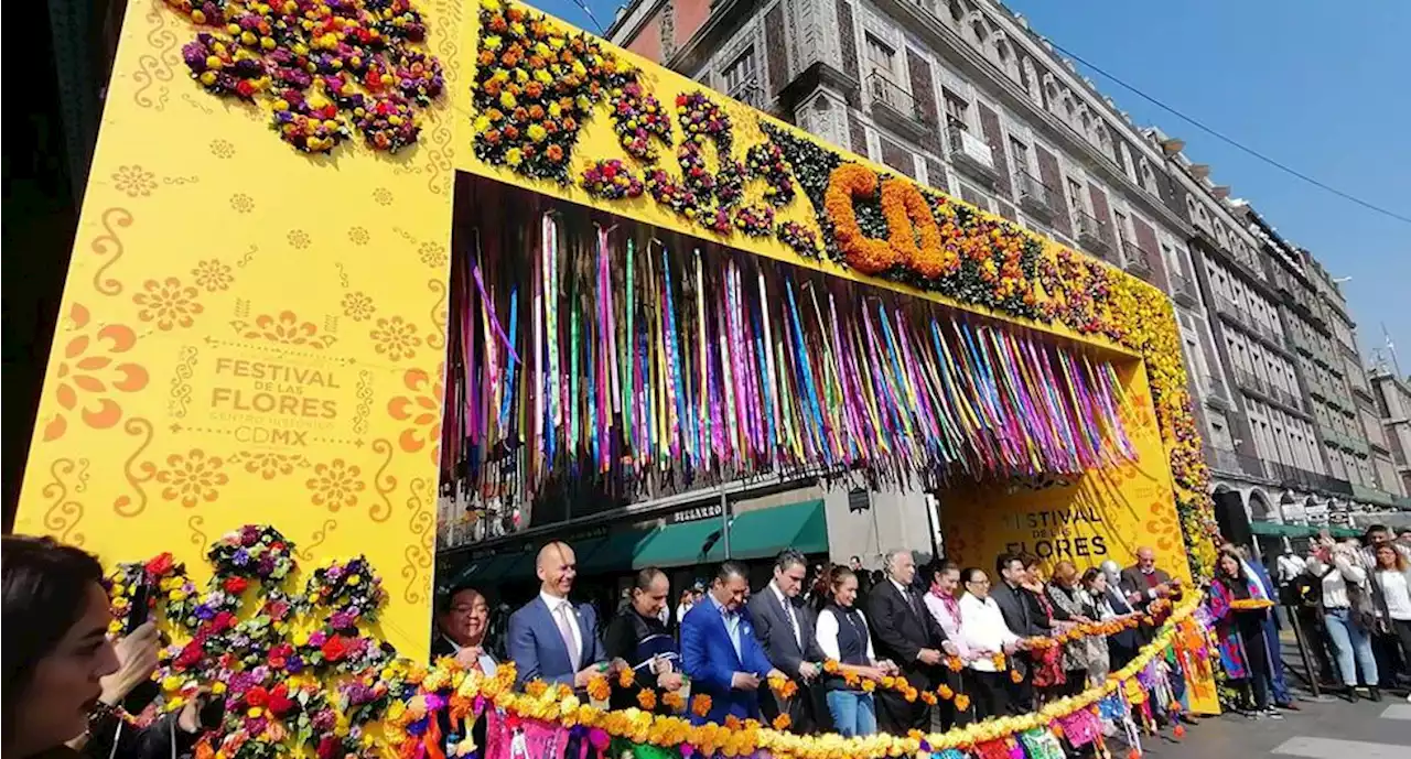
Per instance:
[[[721,528],[720,519],[667,525],[638,549],[632,567],[682,567],[724,561],[725,539]],[[786,547],[803,553],[827,553],[828,522],[824,518],[823,499],[746,511],[731,521],[731,559],[765,559]]]

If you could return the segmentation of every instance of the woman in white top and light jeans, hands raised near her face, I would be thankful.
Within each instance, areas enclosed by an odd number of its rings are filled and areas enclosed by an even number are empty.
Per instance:
[[[1371,700],[1380,701],[1377,690],[1377,657],[1371,653],[1371,631],[1363,629],[1353,614],[1353,594],[1370,593],[1367,570],[1362,569],[1357,549],[1325,540],[1308,557],[1308,573],[1322,580],[1324,624],[1338,653],[1338,672],[1348,686],[1348,700],[1357,700],[1357,666],[1367,680]]]

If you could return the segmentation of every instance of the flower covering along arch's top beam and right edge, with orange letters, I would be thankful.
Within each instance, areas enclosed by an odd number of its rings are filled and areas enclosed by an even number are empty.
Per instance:
[[[536,55],[543,61],[529,61]],[[536,63],[549,65],[550,59],[552,73],[543,79]],[[607,45],[501,0],[481,0],[477,62],[477,157],[531,178],[567,181],[569,148],[597,103],[622,93],[628,100],[625,114],[631,116],[632,103],[645,103],[650,96],[641,72]],[[566,76],[560,79],[560,73]],[[531,92],[536,80],[543,87]],[[559,107],[550,113],[553,104]],[[763,119],[753,120],[753,126],[766,142],[746,150],[741,162],[731,152],[732,134],[741,119],[752,119],[752,111],[725,107],[704,90],[680,93],[673,104],[680,127],[680,174],[648,165],[643,185],[652,202],[690,224],[718,234],[744,236],[746,227],[753,233],[755,224],[737,224],[742,217],[752,221],[753,210],[731,213],[744,202],[746,178],[762,181],[765,202],[776,207],[792,200],[797,185],[813,207],[814,224],[790,219],[775,226],[773,234],[803,255],[821,250],[823,257],[862,274],[1003,316],[1102,337],[1141,356],[1175,481],[1191,569],[1197,577],[1209,576],[1215,530],[1209,473],[1185,391],[1174,310],[1164,293],[1007,220],[879,172]],[[531,113],[532,106],[543,113]],[[559,128],[566,119],[571,119],[570,128]],[[559,131],[545,126],[550,121]],[[540,124],[542,133],[529,134],[531,124]],[[614,126],[626,128],[617,121]],[[666,134],[652,137],[666,141]],[[628,137],[636,144],[635,130]],[[563,161],[550,161],[545,155],[547,145],[562,147]],[[717,171],[707,165],[711,147]],[[804,231],[817,234],[817,245],[807,241]]]

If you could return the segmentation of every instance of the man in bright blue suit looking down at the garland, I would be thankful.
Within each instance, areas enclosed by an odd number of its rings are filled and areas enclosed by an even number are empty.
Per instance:
[[[682,619],[682,663],[691,679],[691,691],[710,696],[706,717],[691,721],[724,722],[734,714],[759,719],[759,686],[769,677],[783,677],[765,656],[745,609],[749,580],[744,564],[725,561],[715,571],[706,602],[696,604]]]

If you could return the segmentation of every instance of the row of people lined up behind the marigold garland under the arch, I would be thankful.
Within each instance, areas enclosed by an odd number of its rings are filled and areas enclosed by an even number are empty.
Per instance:
[[[1184,591],[1149,547],[1126,569],[1106,561],[1079,571],[1058,561],[1047,581],[1038,564],[1033,556],[1005,554],[993,574],[945,561],[923,571],[912,552],[896,550],[873,576],[856,557],[810,570],[803,554],[785,550],[772,578],[753,593],[735,561],[722,563],[708,587],[687,588],[673,632],[662,570],[641,570],[618,612],[600,621],[591,605],[569,601],[573,547],[550,543],[538,556],[540,593],[509,617],[501,650],[515,662],[521,684],[538,679],[586,687],[595,674],[631,667],[632,681],[649,679],[659,696],[689,687],[710,697],[711,708],[693,715],[701,722],[732,715],[842,735],[948,729],[1024,714],[1102,683],[1151,639],[1151,605],[1177,601]],[[433,656],[494,672],[488,611],[476,588],[447,594]],[[1115,632],[1036,643],[1077,625],[1125,618],[1132,625],[1112,625]],[[789,696],[769,687],[785,680],[793,683]],[[967,698],[930,703],[907,698],[904,687],[876,687],[902,680],[916,693],[950,688]],[[625,691],[612,700],[639,703]],[[652,701],[658,708],[667,703]],[[787,719],[779,722],[779,715]]]

